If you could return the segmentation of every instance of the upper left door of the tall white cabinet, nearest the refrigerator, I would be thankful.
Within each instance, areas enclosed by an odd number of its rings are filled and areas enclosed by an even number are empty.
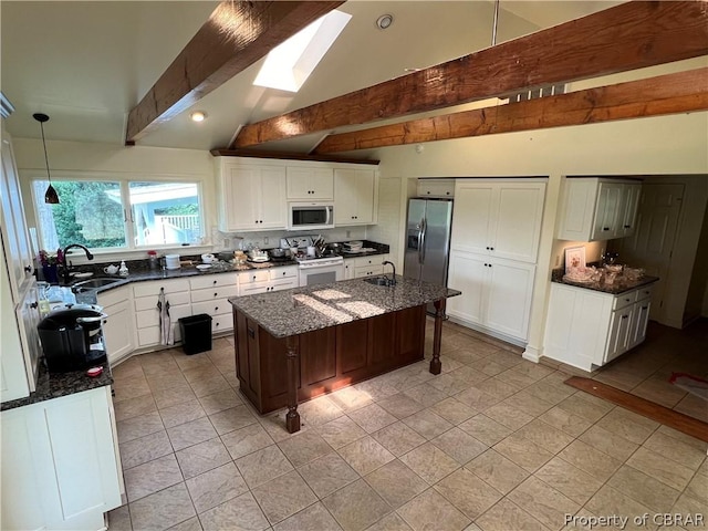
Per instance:
[[[457,183],[452,214],[451,249],[489,253],[490,221],[496,185]]]

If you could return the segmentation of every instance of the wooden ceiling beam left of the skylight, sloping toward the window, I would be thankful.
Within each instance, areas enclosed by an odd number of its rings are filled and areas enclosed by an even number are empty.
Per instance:
[[[344,1],[222,1],[129,115],[126,144],[187,110]]]

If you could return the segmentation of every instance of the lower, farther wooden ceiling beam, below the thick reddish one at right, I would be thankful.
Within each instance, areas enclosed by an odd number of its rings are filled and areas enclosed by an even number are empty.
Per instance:
[[[332,135],[317,155],[708,111],[708,69]]]

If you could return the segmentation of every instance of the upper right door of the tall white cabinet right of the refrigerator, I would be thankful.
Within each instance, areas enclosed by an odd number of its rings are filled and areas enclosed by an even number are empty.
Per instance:
[[[493,233],[489,247],[492,256],[535,263],[544,196],[543,183],[499,185],[497,208],[491,211]]]

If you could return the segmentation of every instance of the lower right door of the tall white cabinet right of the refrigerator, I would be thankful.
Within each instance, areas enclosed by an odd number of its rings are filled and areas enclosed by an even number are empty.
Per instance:
[[[485,294],[485,326],[525,340],[535,267],[493,260],[487,263],[487,269],[489,281]]]

